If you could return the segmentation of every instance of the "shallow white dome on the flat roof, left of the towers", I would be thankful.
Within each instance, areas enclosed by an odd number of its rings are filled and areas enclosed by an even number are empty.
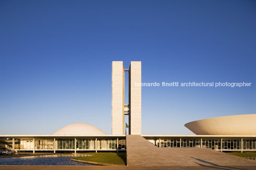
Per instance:
[[[53,135],[106,135],[106,133],[87,123],[73,123],[55,131]]]

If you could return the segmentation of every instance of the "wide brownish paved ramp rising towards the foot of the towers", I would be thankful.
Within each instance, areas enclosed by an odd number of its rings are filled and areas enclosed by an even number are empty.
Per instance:
[[[249,166],[256,170],[255,160],[207,148],[158,148],[140,135],[127,135],[126,147],[128,166],[199,166],[224,170]]]

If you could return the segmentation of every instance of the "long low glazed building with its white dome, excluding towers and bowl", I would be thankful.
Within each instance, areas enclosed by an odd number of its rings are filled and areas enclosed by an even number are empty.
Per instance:
[[[67,133],[67,134],[66,134]],[[256,151],[256,135],[141,135],[157,147],[203,147],[219,151]],[[121,151],[126,135],[107,135],[95,126],[74,123],[51,135],[0,135],[11,138],[16,151]]]

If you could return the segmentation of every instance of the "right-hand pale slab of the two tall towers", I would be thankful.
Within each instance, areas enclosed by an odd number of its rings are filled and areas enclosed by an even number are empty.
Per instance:
[[[141,135],[141,61],[131,61],[129,69],[129,134]]]

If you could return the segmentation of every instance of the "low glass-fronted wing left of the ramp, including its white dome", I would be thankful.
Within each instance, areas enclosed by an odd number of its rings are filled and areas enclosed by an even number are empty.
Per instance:
[[[87,123],[64,126],[51,135],[0,135],[11,138],[16,151],[126,150],[125,135],[107,135]]]

